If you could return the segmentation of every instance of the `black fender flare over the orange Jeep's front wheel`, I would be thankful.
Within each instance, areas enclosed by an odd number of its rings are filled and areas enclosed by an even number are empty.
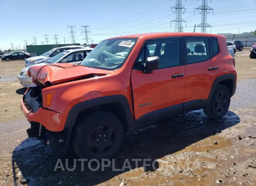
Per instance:
[[[76,123],[77,117],[79,113],[84,111],[85,109],[89,109],[92,107],[100,106],[103,104],[109,104],[109,103],[120,103],[123,106],[123,110],[125,111],[125,117],[127,121],[127,128],[134,129],[136,128],[135,120],[133,119],[133,115],[131,112],[131,108],[129,105],[129,102],[127,98],[124,95],[112,95],[112,96],[104,96],[100,98],[94,98],[92,100],[87,100],[84,102],[80,102],[76,105],[74,105],[67,116],[67,120],[65,122],[65,126],[63,129],[63,133],[65,135],[66,140],[66,150],[69,146],[69,141],[71,139],[71,133],[73,131],[73,127]]]

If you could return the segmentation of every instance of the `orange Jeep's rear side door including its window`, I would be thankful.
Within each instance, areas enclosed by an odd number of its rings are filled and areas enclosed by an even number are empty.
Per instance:
[[[211,83],[218,71],[215,56],[219,53],[217,38],[184,37],[187,46],[195,45],[193,51],[187,49],[186,89],[184,96],[184,109],[206,100],[211,90]],[[193,105],[194,104],[194,105]]]

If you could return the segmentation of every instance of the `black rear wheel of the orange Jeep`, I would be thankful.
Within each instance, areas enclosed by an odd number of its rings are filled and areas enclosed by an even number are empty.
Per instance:
[[[212,119],[222,118],[228,111],[230,105],[230,92],[224,85],[217,85],[210,103],[203,108],[205,115]]]

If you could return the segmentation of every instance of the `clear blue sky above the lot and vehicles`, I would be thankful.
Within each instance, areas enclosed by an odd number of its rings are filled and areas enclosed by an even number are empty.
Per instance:
[[[67,25],[76,25],[77,43],[85,43],[81,34],[81,25],[90,26],[89,38],[94,43],[113,36],[146,32],[174,32],[175,19],[171,7],[176,1],[168,0],[0,0],[1,30],[0,48],[11,48],[10,43],[18,48],[34,43],[44,42],[44,34],[49,34],[49,44],[53,44],[53,34],[58,34],[58,42],[67,43],[70,30]],[[182,0],[186,8],[182,18],[184,32],[193,32],[193,26],[201,23],[201,14],[194,8],[201,6],[202,1]],[[208,0],[208,6],[214,9],[207,16],[208,33],[250,32],[256,29],[256,1],[241,0]],[[187,27],[185,27],[187,25]],[[200,32],[201,28],[196,28]],[[46,44],[46,43],[44,43]]]

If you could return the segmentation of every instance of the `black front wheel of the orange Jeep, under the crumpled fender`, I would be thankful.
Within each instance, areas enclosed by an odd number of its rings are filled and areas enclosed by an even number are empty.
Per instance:
[[[123,143],[124,130],[115,115],[99,111],[81,119],[72,136],[74,150],[80,158],[101,160],[117,153]]]

